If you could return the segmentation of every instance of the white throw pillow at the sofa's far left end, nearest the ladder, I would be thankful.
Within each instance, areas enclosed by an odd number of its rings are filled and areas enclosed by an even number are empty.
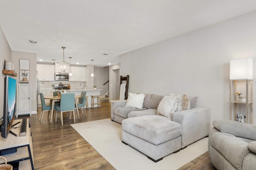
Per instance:
[[[138,109],[142,109],[143,101],[145,95],[140,93],[128,93],[127,102],[125,104],[126,107],[134,107]]]

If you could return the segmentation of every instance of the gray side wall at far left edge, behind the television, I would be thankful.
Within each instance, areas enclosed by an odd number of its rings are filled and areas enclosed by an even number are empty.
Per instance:
[[[6,40],[4,32],[0,26],[0,59],[1,65],[0,70],[4,69],[4,60],[12,61],[12,49],[10,48],[9,43]],[[4,77],[6,75],[1,74],[0,78],[0,93],[2,94],[0,97],[0,118],[4,115]]]

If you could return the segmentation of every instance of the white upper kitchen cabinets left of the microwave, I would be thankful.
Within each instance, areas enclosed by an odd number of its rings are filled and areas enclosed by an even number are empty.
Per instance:
[[[37,64],[36,70],[39,81],[54,81],[54,65]]]

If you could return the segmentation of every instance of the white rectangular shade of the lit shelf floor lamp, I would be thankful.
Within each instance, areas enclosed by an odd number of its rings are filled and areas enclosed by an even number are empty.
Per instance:
[[[251,58],[230,60],[230,80],[252,80]]]

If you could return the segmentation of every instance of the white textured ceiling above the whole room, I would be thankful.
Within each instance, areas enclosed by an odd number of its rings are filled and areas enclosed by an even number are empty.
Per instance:
[[[255,0],[0,0],[0,26],[13,51],[37,53],[38,61],[62,61],[64,46],[72,64],[107,66],[122,53],[253,10]]]

